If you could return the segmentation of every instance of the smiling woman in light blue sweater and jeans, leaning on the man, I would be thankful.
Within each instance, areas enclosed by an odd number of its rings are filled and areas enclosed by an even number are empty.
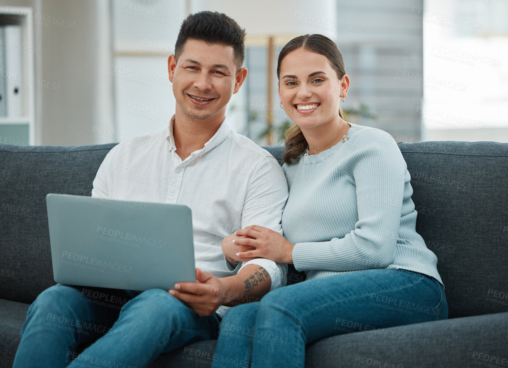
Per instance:
[[[448,318],[437,258],[416,232],[410,175],[393,138],[344,120],[342,55],[322,35],[281,50],[279,96],[290,194],[284,236],[262,226],[223,243],[228,259],[292,263],[304,282],[228,310],[216,366],[303,367],[305,345],[336,334]]]

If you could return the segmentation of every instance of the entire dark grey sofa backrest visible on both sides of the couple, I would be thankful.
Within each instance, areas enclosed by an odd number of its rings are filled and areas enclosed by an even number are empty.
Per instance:
[[[0,298],[32,303],[55,284],[46,194],[90,196],[115,145],[0,145]],[[398,145],[411,174],[416,230],[438,257],[449,317],[508,311],[508,144]],[[282,146],[264,148],[282,164]]]

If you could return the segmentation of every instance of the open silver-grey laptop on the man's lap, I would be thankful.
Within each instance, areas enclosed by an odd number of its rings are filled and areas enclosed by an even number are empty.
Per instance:
[[[190,208],[82,195],[46,195],[55,282],[169,290],[196,281]]]

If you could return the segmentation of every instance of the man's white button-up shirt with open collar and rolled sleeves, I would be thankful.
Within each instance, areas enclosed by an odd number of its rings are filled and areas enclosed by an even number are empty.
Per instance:
[[[268,227],[282,234],[280,220],[288,184],[277,160],[230,128],[227,118],[204,148],[183,161],[168,127],[113,147],[93,180],[92,197],[186,205],[192,211],[196,267],[214,276],[258,264],[270,275],[270,290],[285,285],[287,264],[258,258],[233,270],[221,243],[237,229]],[[223,316],[229,307],[216,311]]]

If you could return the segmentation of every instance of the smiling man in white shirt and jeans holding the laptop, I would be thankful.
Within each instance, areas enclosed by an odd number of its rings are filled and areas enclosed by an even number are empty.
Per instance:
[[[244,38],[225,14],[189,15],[168,58],[176,98],[169,126],[115,146],[93,181],[92,197],[190,207],[197,282],[137,295],[54,285],[28,309],[15,367],[143,367],[163,352],[216,339],[228,306],[285,284],[287,265],[259,258],[234,267],[221,251],[223,240],[240,238],[231,234],[238,228],[281,233],[288,197],[277,161],[227,123],[226,106],[247,75]]]

